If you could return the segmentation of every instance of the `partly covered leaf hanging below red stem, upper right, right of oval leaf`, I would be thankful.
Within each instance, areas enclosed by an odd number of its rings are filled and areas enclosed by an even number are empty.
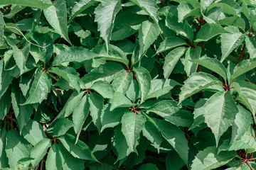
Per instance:
[[[185,63],[184,63],[184,69],[186,74],[189,76],[192,73],[196,72],[198,64],[192,63],[190,60],[193,59],[199,59],[201,57],[201,47],[196,47],[196,48],[188,48],[188,51],[186,52],[185,55]]]

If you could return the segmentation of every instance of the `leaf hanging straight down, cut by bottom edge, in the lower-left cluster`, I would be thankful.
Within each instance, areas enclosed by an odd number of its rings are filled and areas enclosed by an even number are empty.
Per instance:
[[[46,159],[46,169],[59,170],[63,166],[62,155],[60,154],[60,146],[55,143],[50,147]]]

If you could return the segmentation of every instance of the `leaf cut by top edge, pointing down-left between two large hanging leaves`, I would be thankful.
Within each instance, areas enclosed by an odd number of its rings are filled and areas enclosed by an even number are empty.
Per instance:
[[[96,3],[97,1],[94,0],[81,0],[75,3],[75,6],[71,10],[68,23],[70,23],[70,21],[72,21],[76,16],[82,13],[82,11],[85,11],[85,9],[89,8],[90,6],[93,6]]]

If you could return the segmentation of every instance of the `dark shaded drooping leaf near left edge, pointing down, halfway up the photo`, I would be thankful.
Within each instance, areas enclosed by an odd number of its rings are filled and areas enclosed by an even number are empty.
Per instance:
[[[23,96],[21,90],[18,86],[12,86],[11,89],[11,102],[14,109],[15,116],[17,118],[17,124],[19,130],[22,130],[24,126],[28,123],[28,120],[33,113],[33,106],[31,105],[21,105],[24,103],[26,98]]]

